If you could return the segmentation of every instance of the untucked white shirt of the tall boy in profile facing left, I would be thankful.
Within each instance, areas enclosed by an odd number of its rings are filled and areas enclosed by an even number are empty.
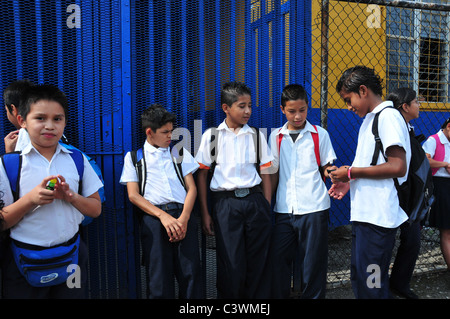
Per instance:
[[[375,114],[391,101],[378,105],[364,118],[359,129],[358,145],[352,166],[369,167],[375,148],[375,139],[372,134],[372,123]],[[398,178],[402,184],[408,175],[411,160],[411,145],[408,127],[401,113],[396,109],[384,110],[378,118],[378,132],[383,143],[384,152],[390,146],[400,146],[406,151],[407,172]],[[385,163],[381,152],[378,164]],[[351,221],[366,222],[384,228],[396,228],[408,219],[408,216],[399,205],[397,190],[392,178],[369,179],[357,178],[350,181]]]

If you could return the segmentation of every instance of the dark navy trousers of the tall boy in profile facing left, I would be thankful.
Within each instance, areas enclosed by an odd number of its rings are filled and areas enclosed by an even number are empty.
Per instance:
[[[352,223],[351,274],[357,299],[388,299],[389,265],[397,228]]]

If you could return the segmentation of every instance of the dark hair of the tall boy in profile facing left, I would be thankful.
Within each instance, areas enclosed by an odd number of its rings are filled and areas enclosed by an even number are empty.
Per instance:
[[[365,85],[379,96],[383,95],[383,83],[380,76],[373,69],[362,65],[345,70],[336,84],[336,91],[359,94],[361,85]]]

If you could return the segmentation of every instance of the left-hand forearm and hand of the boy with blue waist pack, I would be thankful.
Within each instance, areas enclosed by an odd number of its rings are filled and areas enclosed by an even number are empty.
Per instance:
[[[3,219],[5,228],[11,228],[16,225],[27,213],[36,209],[39,205],[50,204],[54,200],[54,193],[46,189],[47,183],[56,178],[48,176],[44,178],[41,184],[37,185],[30,192],[19,198],[17,201],[3,208]]]

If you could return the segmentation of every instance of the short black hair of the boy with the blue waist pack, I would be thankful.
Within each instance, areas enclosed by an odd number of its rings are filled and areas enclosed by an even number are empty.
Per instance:
[[[22,107],[19,109],[19,114],[26,119],[30,113],[31,105],[42,100],[53,101],[59,103],[64,109],[66,122],[69,116],[67,97],[57,86],[51,84],[39,84],[29,87],[25,91],[25,98]]]

